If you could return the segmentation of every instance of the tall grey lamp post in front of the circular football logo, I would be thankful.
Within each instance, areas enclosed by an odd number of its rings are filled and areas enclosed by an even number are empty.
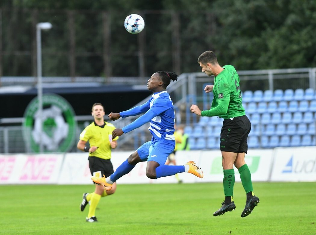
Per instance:
[[[36,25],[36,49],[37,49],[37,98],[39,101],[38,118],[40,120],[39,140],[40,153],[43,152],[42,131],[43,131],[43,86],[42,86],[42,45],[41,45],[41,30],[50,29],[52,24],[49,22],[38,23]]]

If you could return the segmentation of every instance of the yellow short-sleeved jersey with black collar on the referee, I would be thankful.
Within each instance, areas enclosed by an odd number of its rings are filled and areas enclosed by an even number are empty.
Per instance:
[[[115,126],[111,123],[104,122],[104,127],[96,125],[94,122],[88,125],[80,134],[80,140],[89,141],[90,146],[99,147],[93,153],[89,153],[89,157],[98,157],[102,159],[111,159],[111,145],[109,135],[112,136],[112,131]],[[117,136],[113,140],[119,139]]]

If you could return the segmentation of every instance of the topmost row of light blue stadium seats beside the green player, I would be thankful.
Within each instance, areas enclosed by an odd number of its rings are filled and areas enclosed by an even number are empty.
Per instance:
[[[296,90],[286,89],[285,91],[277,89],[271,90],[257,90],[257,91],[245,91],[242,93],[242,99],[244,102],[270,102],[270,101],[291,101],[291,100],[313,100],[316,99],[315,90],[307,88],[306,90],[298,88]]]

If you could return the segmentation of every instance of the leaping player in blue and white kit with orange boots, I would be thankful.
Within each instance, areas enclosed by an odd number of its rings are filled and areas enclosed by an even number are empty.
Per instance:
[[[92,177],[96,184],[101,184],[106,190],[111,190],[112,184],[129,173],[137,163],[147,161],[146,176],[151,179],[157,179],[165,176],[175,175],[181,172],[189,172],[199,178],[203,178],[203,171],[195,165],[194,161],[189,161],[184,166],[165,165],[168,156],[173,152],[175,146],[174,132],[174,108],[167,86],[170,81],[177,81],[178,75],[174,72],[158,71],[151,75],[147,82],[147,89],[154,94],[143,105],[136,106],[130,110],[110,113],[110,120],[117,120],[120,117],[136,116],[134,122],[128,124],[122,129],[112,131],[113,138],[130,132],[145,123],[150,123],[149,131],[152,135],[151,141],[144,143],[131,156],[123,162],[116,171],[105,178]]]

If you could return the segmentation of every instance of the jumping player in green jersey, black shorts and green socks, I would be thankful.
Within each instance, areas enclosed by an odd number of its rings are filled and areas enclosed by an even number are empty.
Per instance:
[[[201,111],[197,105],[191,106],[191,112],[202,117],[222,117],[220,150],[222,151],[222,166],[224,170],[223,186],[225,200],[222,207],[213,215],[218,216],[236,208],[233,200],[235,183],[234,166],[240,173],[242,185],[246,191],[246,206],[241,217],[249,215],[259,203],[259,198],[253,193],[251,173],[245,162],[248,150],[247,137],[251,123],[245,115],[239,86],[239,76],[232,65],[221,67],[213,51],[203,52],[197,59],[202,72],[208,76],[214,75],[214,85],[207,85],[205,93],[214,93],[210,110]]]

